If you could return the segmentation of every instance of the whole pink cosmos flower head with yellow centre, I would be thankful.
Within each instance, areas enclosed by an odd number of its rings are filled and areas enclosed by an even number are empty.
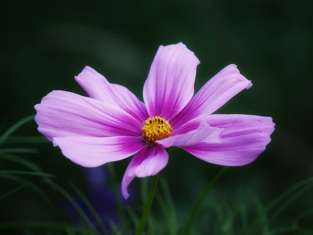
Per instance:
[[[230,64],[193,95],[198,64],[182,43],[160,46],[143,87],[145,103],[86,66],[75,80],[90,98],[52,91],[35,105],[38,131],[85,167],[135,154],[122,180],[125,198],[135,177],[156,175],[167,165],[171,146],[218,165],[254,161],[271,141],[272,118],[212,115],[251,81]]]

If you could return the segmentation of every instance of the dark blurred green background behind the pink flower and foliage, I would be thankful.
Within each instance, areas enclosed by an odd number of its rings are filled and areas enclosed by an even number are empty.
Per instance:
[[[247,206],[258,198],[265,207],[289,187],[313,175],[312,12],[312,1],[0,1],[0,123],[4,123],[5,131],[35,114],[33,105],[52,90],[86,95],[74,81],[85,65],[109,82],[126,86],[142,100],[142,87],[159,45],[183,42],[195,53],[201,61],[195,91],[226,65],[236,64],[241,74],[252,80],[253,87],[235,96],[217,113],[271,116],[276,126],[266,151],[247,166],[229,168],[204,202],[203,208],[214,204],[226,210],[222,217],[227,222],[227,210],[234,205]],[[14,135],[40,136],[36,128],[32,121]],[[0,149],[30,145],[39,153],[18,156],[55,175],[54,180],[70,194],[75,192],[69,180],[90,198],[95,197],[93,184],[95,188],[108,188],[99,190],[95,198],[111,193],[107,167],[97,175],[92,169],[70,162],[50,142],[4,143]],[[168,182],[181,226],[221,166],[178,148],[172,150],[160,177]],[[113,164],[118,182],[129,161]],[[5,159],[0,159],[0,167],[22,169]],[[98,180],[103,176],[103,180],[90,182],[90,174]],[[23,189],[0,201],[0,221],[74,220],[70,209],[62,211],[68,207],[62,196],[50,192],[38,178],[30,180],[57,206],[51,209],[36,193]],[[135,179],[131,183],[131,198],[125,205],[135,208],[141,203],[141,182]],[[8,179],[1,179],[0,184],[0,194],[17,185]],[[114,199],[110,200],[112,208],[103,210],[118,222]],[[93,203],[102,208],[100,204],[110,200]],[[152,210],[157,213],[160,208],[154,205]],[[307,210],[313,210],[312,190],[288,205],[270,228],[290,225],[286,221]],[[305,217],[297,225],[313,230],[312,220],[312,216]],[[216,214],[203,209],[196,230],[200,234],[211,234],[203,231],[214,229],[216,232],[214,221]]]

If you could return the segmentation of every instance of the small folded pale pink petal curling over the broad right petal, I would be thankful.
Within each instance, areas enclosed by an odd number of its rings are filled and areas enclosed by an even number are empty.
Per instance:
[[[156,140],[164,148],[171,146],[191,146],[199,142],[220,143],[223,128],[211,127],[205,121],[193,121],[173,131],[173,135]]]

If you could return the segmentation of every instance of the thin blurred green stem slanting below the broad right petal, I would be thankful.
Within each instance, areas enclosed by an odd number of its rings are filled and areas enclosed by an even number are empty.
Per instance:
[[[189,221],[187,223],[187,228],[186,228],[186,234],[187,235],[190,234],[193,220],[196,217],[201,204],[203,203],[204,199],[207,197],[208,193],[210,192],[210,190],[212,189],[212,187],[214,186],[216,181],[218,181],[218,179],[223,175],[223,173],[227,170],[227,168],[228,168],[228,166],[224,166],[220,171],[218,171],[216,176],[210,181],[210,183],[208,184],[206,189],[203,191],[201,197],[199,198],[196,206],[193,208],[192,213],[191,213],[191,215],[189,217]]]

